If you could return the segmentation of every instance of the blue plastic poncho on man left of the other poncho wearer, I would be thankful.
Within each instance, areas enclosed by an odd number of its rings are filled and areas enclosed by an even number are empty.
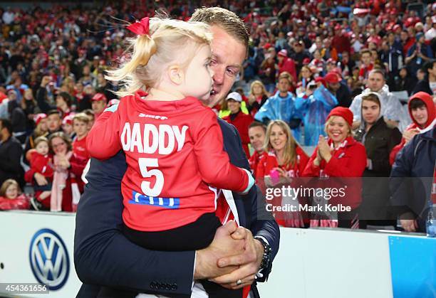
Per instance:
[[[290,124],[291,119],[301,119],[301,116],[295,110],[295,97],[291,92],[288,92],[286,97],[281,97],[280,92],[277,91],[272,97],[261,106],[254,119],[267,124],[270,120],[283,120]],[[294,127],[292,134],[297,142],[301,142],[300,125]]]

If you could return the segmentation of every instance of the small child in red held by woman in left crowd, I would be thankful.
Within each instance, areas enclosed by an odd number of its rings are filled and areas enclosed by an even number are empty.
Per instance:
[[[48,154],[48,139],[46,137],[37,137],[35,139],[35,149],[30,149],[26,157],[30,160],[31,169],[33,174],[38,173],[43,175],[48,183],[44,186],[33,185],[35,191],[35,198],[37,201],[42,202],[50,197],[51,194],[51,181],[53,181],[53,162],[51,154]],[[48,202],[50,200],[47,200]]]

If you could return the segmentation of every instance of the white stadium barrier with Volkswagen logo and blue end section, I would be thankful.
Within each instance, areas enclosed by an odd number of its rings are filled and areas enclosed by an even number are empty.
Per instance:
[[[0,296],[76,297],[75,215],[0,213]],[[436,239],[419,234],[281,228],[279,254],[261,297],[435,297]],[[11,294],[16,284],[49,285],[49,294]],[[24,288],[24,285],[23,285]]]

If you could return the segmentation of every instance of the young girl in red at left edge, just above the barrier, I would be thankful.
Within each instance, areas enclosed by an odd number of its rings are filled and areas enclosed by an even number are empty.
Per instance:
[[[8,179],[1,184],[0,210],[28,209],[28,197],[21,193],[19,183]]]

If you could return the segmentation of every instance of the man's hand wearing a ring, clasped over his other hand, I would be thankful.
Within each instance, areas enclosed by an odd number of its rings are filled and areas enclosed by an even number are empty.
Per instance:
[[[210,281],[227,289],[241,289],[254,282],[261,265],[264,246],[261,245],[259,240],[253,238],[250,230],[243,227],[239,227],[237,232],[232,234],[232,238],[244,240],[244,251],[232,257],[222,257],[218,260],[218,266],[222,268],[239,266],[239,268],[229,274],[215,277]],[[238,280],[242,282],[239,285],[237,284]]]

